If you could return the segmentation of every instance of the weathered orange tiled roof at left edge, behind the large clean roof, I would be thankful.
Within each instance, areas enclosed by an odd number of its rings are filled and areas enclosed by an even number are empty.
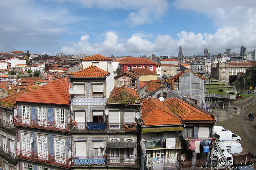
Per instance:
[[[10,95],[0,99],[0,107],[5,107],[5,108],[14,108],[14,107],[16,107],[15,103],[13,102],[14,99],[23,95],[24,92],[28,93],[28,92],[34,91],[35,89],[36,89],[36,87],[27,88],[27,89],[20,90],[19,92],[16,92],[13,89],[9,90],[9,91],[12,91],[14,93],[11,92],[11,93],[9,93]]]

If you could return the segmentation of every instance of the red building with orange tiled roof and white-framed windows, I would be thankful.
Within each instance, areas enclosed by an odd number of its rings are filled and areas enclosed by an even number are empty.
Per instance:
[[[120,59],[119,63],[121,74],[135,68],[148,68],[149,70],[156,71],[156,64],[147,58],[138,57],[125,57]]]

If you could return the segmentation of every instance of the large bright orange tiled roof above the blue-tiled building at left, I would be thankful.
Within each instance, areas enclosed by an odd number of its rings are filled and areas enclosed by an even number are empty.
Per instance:
[[[70,103],[70,94],[68,93],[68,89],[68,80],[54,80],[33,92],[29,92],[18,97],[14,101],[68,105]]]

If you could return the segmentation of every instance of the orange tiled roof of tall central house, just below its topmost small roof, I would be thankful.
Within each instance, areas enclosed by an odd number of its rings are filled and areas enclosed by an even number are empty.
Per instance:
[[[100,78],[106,77],[108,74],[110,73],[98,68],[97,66],[91,65],[83,70],[77,71],[73,74],[73,78]]]

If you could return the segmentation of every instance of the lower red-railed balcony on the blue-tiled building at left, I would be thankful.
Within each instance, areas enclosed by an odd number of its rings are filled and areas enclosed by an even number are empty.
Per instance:
[[[44,155],[36,152],[17,150],[17,158],[66,168],[71,166],[71,159],[55,157],[52,155]]]

